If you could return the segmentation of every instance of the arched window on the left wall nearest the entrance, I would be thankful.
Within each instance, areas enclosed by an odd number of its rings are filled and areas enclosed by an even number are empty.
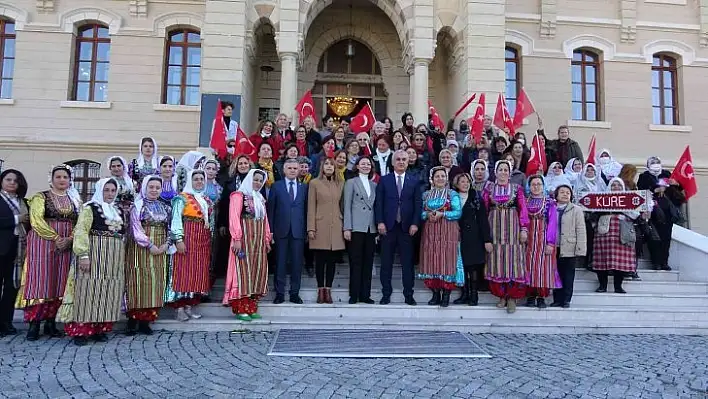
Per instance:
[[[199,32],[179,29],[167,36],[162,103],[199,105],[202,48]]]

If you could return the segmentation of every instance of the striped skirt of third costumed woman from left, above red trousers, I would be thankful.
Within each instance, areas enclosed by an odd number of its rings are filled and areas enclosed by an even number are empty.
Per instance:
[[[150,242],[161,246],[167,242],[165,224],[143,223],[145,235]],[[152,255],[148,248],[135,241],[128,244],[128,260],[125,266],[127,309],[161,308],[164,304],[167,281],[167,254]]]

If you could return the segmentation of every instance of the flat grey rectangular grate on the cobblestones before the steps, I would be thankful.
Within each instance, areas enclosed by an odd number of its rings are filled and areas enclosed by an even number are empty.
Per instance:
[[[279,330],[269,356],[490,358],[457,331]]]

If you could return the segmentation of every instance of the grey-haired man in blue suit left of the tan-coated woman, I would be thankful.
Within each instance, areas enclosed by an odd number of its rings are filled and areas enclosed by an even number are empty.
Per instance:
[[[300,277],[302,275],[303,252],[305,250],[307,185],[298,183],[299,164],[297,159],[288,159],[283,165],[285,179],[276,181],[268,197],[268,220],[275,237],[276,270],[275,300],[285,302],[285,276],[290,260],[290,302],[302,303],[300,299]]]

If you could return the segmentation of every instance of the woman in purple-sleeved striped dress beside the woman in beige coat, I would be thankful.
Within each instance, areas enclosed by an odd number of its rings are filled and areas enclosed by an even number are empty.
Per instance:
[[[555,162],[560,166],[560,162]],[[548,197],[543,177],[529,177],[529,240],[526,244],[526,271],[529,276],[526,306],[543,309],[551,289],[560,288],[556,261],[558,244],[558,212],[556,203]]]

